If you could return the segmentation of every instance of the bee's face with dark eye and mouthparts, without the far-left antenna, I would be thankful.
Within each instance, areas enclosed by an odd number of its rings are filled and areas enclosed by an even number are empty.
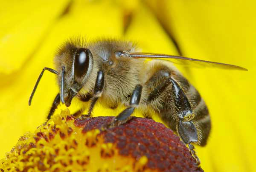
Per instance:
[[[70,106],[74,96],[87,82],[93,68],[93,55],[87,48],[73,48],[61,53],[57,61],[59,68],[58,83],[63,87],[63,100]],[[63,80],[63,81],[62,81]]]

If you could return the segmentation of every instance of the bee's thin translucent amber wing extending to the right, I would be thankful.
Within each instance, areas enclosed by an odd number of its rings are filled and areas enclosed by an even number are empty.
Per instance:
[[[182,65],[189,65],[189,66],[195,66],[195,67],[210,67],[210,68],[221,68],[221,69],[229,69],[229,70],[244,70],[247,71],[246,68],[236,66],[236,65],[230,65],[226,63],[219,63],[219,62],[210,62],[205,60],[199,60],[199,59],[192,59],[188,57],[183,56],[173,56],[173,55],[167,55],[167,54],[155,54],[155,53],[130,53],[130,57],[132,58],[149,58],[149,59],[162,59],[171,61],[175,64],[182,64]]]

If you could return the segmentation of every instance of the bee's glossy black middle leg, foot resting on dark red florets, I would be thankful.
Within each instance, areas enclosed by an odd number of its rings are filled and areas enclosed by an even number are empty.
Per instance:
[[[121,124],[124,124],[126,121],[130,119],[131,114],[134,112],[135,107],[137,107],[140,103],[140,97],[142,93],[142,85],[136,85],[130,99],[129,107],[123,110],[113,121],[108,124],[106,127],[111,128]]]

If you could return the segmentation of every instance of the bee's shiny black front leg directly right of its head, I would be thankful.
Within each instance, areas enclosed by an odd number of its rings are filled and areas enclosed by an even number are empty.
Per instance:
[[[95,86],[94,86],[93,98],[91,99],[87,116],[91,115],[95,103],[97,102],[99,97],[102,95],[103,87],[104,87],[104,73],[102,70],[99,70],[97,74]]]

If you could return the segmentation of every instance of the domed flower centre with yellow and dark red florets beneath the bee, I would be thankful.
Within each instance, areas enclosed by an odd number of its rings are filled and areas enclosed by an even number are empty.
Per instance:
[[[74,118],[68,109],[35,133],[23,135],[2,172],[203,172],[172,130],[151,119],[133,118],[100,131],[112,117]]]

